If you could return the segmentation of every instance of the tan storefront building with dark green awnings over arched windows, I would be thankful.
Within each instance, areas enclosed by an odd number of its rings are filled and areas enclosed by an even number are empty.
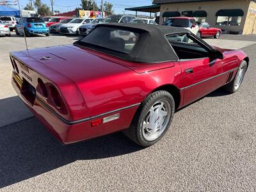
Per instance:
[[[256,3],[248,0],[154,0],[160,5],[160,24],[170,17],[195,17],[223,33],[256,33]]]

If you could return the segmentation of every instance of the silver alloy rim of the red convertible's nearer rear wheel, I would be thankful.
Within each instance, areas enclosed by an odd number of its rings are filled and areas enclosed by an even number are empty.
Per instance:
[[[145,140],[154,141],[163,134],[169,124],[171,113],[168,100],[158,100],[151,106],[142,125],[142,135]]]

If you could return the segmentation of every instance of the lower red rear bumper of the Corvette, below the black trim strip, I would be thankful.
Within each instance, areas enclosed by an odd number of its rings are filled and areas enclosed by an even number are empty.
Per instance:
[[[77,141],[88,140],[109,134],[111,132],[121,131],[131,124],[134,113],[138,109],[138,105],[131,106],[131,108],[125,108],[120,111],[113,111],[108,115],[102,115],[90,120],[79,120],[76,122],[66,122],[61,120],[60,117],[52,113],[51,108],[47,107],[47,104],[42,102],[39,97],[36,96],[35,102],[31,104],[20,90],[22,88],[22,79],[16,74],[12,74],[12,86],[19,95],[20,99],[26,104],[28,109],[45,125],[45,127],[63,144],[74,143]],[[113,120],[105,124],[100,124],[92,127],[92,122],[99,118],[104,118],[109,115],[120,114],[118,120]]]

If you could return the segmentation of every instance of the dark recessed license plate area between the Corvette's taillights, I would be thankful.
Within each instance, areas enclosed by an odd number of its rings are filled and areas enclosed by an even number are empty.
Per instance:
[[[36,89],[24,78],[20,93],[33,106],[36,99]]]

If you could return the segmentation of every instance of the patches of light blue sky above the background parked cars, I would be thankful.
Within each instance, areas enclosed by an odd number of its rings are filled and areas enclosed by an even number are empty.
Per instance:
[[[19,0],[20,6],[26,6],[29,0]],[[50,6],[51,0],[41,0],[43,3],[46,3]],[[104,0],[103,0],[104,1]],[[113,4],[113,10],[115,13],[123,13],[125,8],[133,6],[145,6],[151,4],[151,0],[107,0],[107,2]],[[96,0],[97,5],[101,4],[100,0]],[[68,12],[74,10],[77,6],[81,4],[81,0],[54,0],[54,10],[59,10],[60,12]],[[125,13],[134,13],[125,11]]]

